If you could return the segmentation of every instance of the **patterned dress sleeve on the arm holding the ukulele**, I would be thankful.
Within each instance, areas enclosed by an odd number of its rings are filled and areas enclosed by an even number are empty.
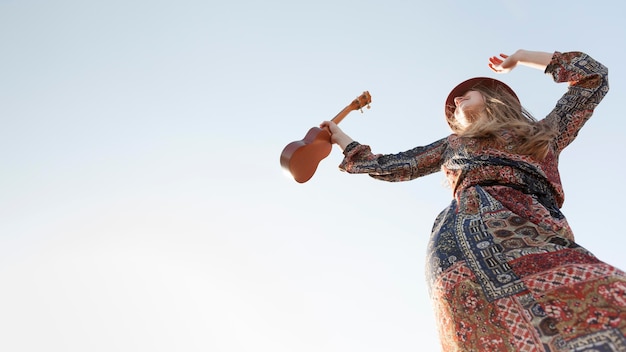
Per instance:
[[[366,173],[375,179],[409,181],[441,170],[447,138],[397,154],[373,154],[367,145],[353,142],[344,150],[339,168],[349,173]]]

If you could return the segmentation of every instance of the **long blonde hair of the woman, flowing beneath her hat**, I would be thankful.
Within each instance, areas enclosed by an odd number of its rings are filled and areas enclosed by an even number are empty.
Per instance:
[[[476,113],[474,121],[463,128],[454,118],[448,116],[448,125],[460,137],[493,138],[502,145],[513,142],[513,152],[530,155],[543,160],[548,154],[550,143],[556,137],[552,126],[537,121],[520,102],[506,90],[495,90],[477,86],[472,90],[480,92],[485,99],[485,109]],[[471,114],[471,113],[470,113]],[[513,141],[505,139],[503,132],[510,132]]]

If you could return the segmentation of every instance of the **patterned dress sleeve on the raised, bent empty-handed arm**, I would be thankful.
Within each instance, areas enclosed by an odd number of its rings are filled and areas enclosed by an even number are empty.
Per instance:
[[[609,91],[608,69],[582,52],[555,52],[545,73],[557,83],[569,83],[567,92],[544,119],[558,129],[554,148],[559,154],[576,138]]]

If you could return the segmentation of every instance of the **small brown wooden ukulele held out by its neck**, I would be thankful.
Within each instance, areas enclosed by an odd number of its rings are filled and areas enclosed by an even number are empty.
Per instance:
[[[339,123],[353,110],[361,110],[372,102],[370,93],[365,91],[352,103],[333,117],[331,121]],[[280,154],[280,165],[288,171],[298,183],[305,183],[317,170],[319,163],[326,158],[332,149],[330,131],[327,128],[313,127],[304,139],[287,144]]]

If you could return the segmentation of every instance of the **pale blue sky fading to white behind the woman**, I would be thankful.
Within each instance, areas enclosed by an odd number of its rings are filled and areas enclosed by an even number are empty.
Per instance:
[[[579,244],[626,268],[619,1],[0,0],[0,350],[438,351],[425,285],[441,173],[287,177],[341,123],[377,153],[446,136],[474,76],[542,118],[566,89],[495,75],[519,48],[584,51],[611,91],[561,156]]]

